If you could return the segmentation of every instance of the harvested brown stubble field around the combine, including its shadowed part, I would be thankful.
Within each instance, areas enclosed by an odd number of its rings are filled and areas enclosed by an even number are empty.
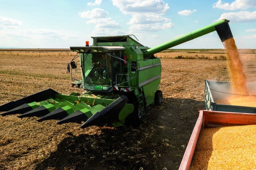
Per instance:
[[[0,51],[0,105],[47,88],[82,92],[70,87],[66,73],[74,54]],[[256,81],[255,54],[241,58],[247,80]],[[0,117],[0,169],[178,169],[197,109],[204,109],[204,80],[228,81],[229,76],[225,60],[161,62],[163,103],[149,106],[139,128],[81,129],[75,123]]]

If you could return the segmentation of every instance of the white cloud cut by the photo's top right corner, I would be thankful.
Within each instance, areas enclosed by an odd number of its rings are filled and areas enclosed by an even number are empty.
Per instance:
[[[256,7],[256,1],[255,0],[235,0],[231,4],[229,3],[222,3],[221,0],[218,0],[218,2],[214,3],[213,8],[219,8],[224,10],[238,10],[238,9],[248,9],[248,8],[255,8]]]

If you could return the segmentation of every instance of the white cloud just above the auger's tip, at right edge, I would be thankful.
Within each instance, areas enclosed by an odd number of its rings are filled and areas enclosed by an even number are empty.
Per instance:
[[[256,11],[239,11],[223,13],[221,14],[220,18],[216,21],[219,21],[221,19],[228,19],[231,22],[253,22],[256,21]]]

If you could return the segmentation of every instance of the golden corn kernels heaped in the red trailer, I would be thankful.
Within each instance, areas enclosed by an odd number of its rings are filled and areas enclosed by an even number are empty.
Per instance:
[[[256,125],[204,128],[190,170],[256,169]]]

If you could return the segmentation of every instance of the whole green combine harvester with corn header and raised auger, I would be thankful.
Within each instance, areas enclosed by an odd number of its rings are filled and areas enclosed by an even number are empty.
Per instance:
[[[153,48],[143,46],[132,35],[92,37],[91,46],[86,42],[86,46],[70,47],[77,55],[67,64],[72,86],[83,88],[84,94],[63,95],[46,89],[1,105],[1,115],[40,117],[38,122],[55,119],[57,124],[84,122],[81,128],[138,126],[146,120],[146,107],[161,104],[163,99],[161,61],[154,54],[213,31],[223,42],[233,37],[228,22],[223,19]],[[79,66],[82,80],[74,78]]]

